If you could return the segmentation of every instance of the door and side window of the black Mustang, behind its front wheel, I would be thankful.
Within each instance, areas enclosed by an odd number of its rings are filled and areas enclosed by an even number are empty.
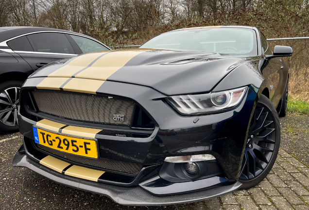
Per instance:
[[[261,36],[261,44],[262,44],[262,51],[264,55],[272,55],[273,52],[271,45],[267,42],[265,36],[260,33]],[[284,88],[281,88],[282,84],[285,84],[286,78],[287,78],[287,69],[284,67],[284,63],[282,61],[282,58],[276,57],[272,59],[266,59],[266,66],[263,69],[263,75],[265,78],[269,78],[269,84],[270,84],[270,100],[275,105],[275,107],[278,105],[280,98],[283,94],[281,91]]]

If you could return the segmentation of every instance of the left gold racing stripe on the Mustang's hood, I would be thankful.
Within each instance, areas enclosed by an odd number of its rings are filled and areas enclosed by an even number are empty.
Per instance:
[[[71,77],[80,70],[87,68],[95,59],[106,53],[88,53],[73,59],[69,64],[55,70],[48,77]]]

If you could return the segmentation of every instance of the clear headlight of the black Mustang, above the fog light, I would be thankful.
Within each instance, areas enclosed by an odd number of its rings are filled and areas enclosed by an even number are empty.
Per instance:
[[[240,104],[248,87],[199,95],[180,95],[168,97],[167,101],[184,115],[199,115],[220,112]]]

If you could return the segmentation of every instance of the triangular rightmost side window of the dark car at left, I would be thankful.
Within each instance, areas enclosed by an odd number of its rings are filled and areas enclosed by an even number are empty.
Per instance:
[[[108,50],[103,45],[91,39],[78,36],[78,35],[70,35],[70,36],[74,39],[74,41],[77,43],[78,47],[81,49],[81,51],[84,54]]]

